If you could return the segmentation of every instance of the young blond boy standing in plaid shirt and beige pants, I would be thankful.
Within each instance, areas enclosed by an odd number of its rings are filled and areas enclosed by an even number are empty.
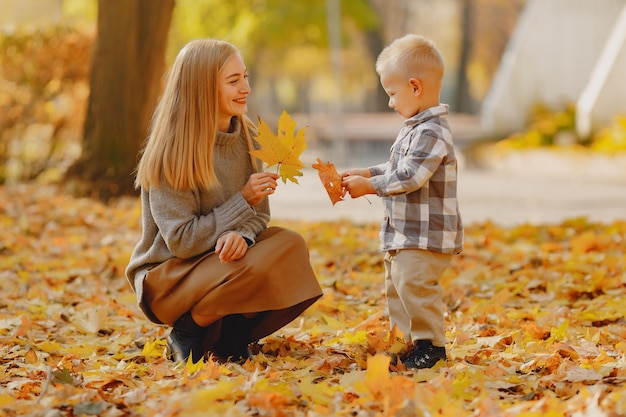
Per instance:
[[[439,103],[444,64],[428,39],[406,35],[380,53],[376,72],[389,107],[405,120],[389,161],[342,174],[352,198],[383,199],[381,250],[390,325],[404,333],[407,368],[431,368],[446,359],[439,278],[463,249],[457,202],[457,160]]]

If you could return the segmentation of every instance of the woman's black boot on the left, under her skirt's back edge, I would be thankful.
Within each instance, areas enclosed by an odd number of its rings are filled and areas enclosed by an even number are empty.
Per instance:
[[[196,363],[204,357],[204,333],[206,329],[199,326],[191,313],[183,314],[167,336],[166,354],[177,362],[186,362],[191,355],[191,360]]]

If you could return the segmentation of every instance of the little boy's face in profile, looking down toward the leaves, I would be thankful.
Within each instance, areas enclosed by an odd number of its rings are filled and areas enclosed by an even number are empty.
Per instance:
[[[422,110],[422,83],[417,78],[386,70],[380,74],[380,83],[389,96],[389,107],[403,118],[413,117]]]

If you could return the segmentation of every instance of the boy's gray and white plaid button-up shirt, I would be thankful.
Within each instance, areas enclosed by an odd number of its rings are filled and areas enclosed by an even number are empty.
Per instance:
[[[442,104],[405,120],[389,161],[369,168],[372,185],[383,199],[382,251],[463,250],[457,160],[447,114],[448,106]]]

